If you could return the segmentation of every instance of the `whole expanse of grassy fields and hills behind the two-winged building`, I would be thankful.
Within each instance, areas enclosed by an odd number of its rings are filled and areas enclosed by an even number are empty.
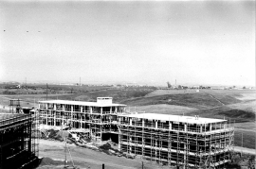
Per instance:
[[[126,104],[128,110],[225,118],[236,128],[235,144],[241,144],[243,132],[243,146],[255,148],[256,97],[252,90],[200,90],[198,93],[195,90],[155,90],[154,87],[48,87],[51,91],[64,91],[63,94],[49,93],[48,99],[96,101],[98,96],[111,96],[114,103]],[[38,88],[46,90],[46,85]],[[35,106],[38,100],[46,99],[46,93],[0,94],[0,108],[9,105],[9,98],[22,99],[22,106]]]

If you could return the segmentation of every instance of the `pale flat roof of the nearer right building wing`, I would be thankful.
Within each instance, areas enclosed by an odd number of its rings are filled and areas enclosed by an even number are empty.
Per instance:
[[[119,116],[135,117],[135,118],[149,119],[149,120],[181,122],[181,123],[189,123],[189,124],[212,124],[212,123],[220,123],[220,122],[227,121],[222,119],[211,119],[211,118],[203,118],[203,117],[198,117],[197,119],[195,119],[195,117],[193,116],[156,114],[156,113],[122,114]]]

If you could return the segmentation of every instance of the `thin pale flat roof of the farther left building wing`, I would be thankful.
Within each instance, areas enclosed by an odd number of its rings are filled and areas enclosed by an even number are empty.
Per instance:
[[[115,106],[125,107],[126,106],[123,104],[115,104],[115,103],[82,102],[82,101],[70,101],[70,100],[45,100],[45,101],[39,101],[39,103],[94,106],[94,107],[115,107]]]

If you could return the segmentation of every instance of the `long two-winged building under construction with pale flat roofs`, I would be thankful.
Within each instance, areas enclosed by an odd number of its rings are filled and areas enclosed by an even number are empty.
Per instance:
[[[84,128],[96,140],[112,139],[119,150],[183,168],[223,168],[230,161],[234,128],[227,120],[125,110],[111,97],[97,102],[39,102],[42,125]]]

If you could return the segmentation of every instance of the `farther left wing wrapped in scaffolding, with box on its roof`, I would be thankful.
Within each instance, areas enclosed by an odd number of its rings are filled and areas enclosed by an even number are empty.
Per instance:
[[[89,129],[90,138],[95,141],[118,137],[118,114],[125,105],[112,104],[111,97],[98,97],[97,102],[66,100],[39,101],[41,125],[53,128],[68,126]]]

